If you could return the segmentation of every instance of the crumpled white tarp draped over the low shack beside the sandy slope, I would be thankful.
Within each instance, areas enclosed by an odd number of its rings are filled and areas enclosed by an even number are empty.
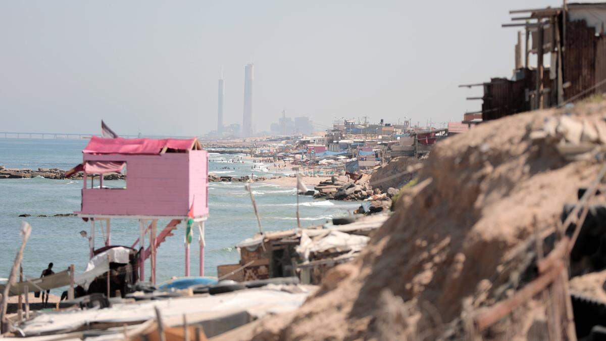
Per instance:
[[[322,252],[336,248],[341,251],[360,251],[367,244],[370,237],[365,235],[348,234],[340,231],[330,231],[324,237],[312,240],[305,231],[301,233],[301,243],[296,247],[299,256],[305,261],[309,260],[311,252]]]

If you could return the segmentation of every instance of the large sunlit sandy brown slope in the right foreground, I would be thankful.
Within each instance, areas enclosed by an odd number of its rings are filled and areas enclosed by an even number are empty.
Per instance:
[[[361,257],[328,272],[295,314],[265,319],[245,338],[474,338],[470,317],[536,278],[528,245],[553,234],[564,206],[596,178],[605,118],[606,102],[578,104],[488,121],[436,144]],[[606,277],[594,277],[574,286],[604,291]],[[545,302],[524,300],[482,338],[533,339]]]

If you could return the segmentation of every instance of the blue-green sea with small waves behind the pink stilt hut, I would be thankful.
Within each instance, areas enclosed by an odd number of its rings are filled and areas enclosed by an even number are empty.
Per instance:
[[[82,161],[82,149],[88,140],[16,139],[0,138],[0,166],[7,168],[59,168],[71,169]],[[276,175],[267,165],[245,160],[244,155],[211,154],[209,172],[217,175]],[[239,162],[242,161],[242,162]],[[227,168],[228,169],[227,169]],[[287,174],[285,172],[284,174]],[[278,172],[278,175],[284,175]],[[111,187],[124,186],[124,181],[105,180]],[[259,231],[250,195],[244,183],[210,183],[208,185],[210,215],[205,223],[206,246],[205,275],[216,275],[217,266],[239,262],[235,245]],[[251,183],[261,215],[264,231],[279,231],[296,227],[296,190],[263,182]],[[90,233],[90,222],[78,217],[37,217],[38,215],[65,214],[79,211],[82,180],[52,180],[41,177],[29,179],[0,179],[0,278],[8,277],[16,251],[21,244],[21,222],[32,226],[23,258],[23,271],[27,277],[39,277],[49,262],[55,272],[75,265],[82,272],[88,262],[88,240],[80,231]],[[301,225],[320,225],[331,217],[348,214],[359,203],[314,200],[300,196]],[[20,214],[32,217],[21,218]],[[168,220],[158,221],[158,231]],[[131,246],[139,237],[138,221],[113,219],[112,245]],[[181,223],[158,248],[157,281],[162,282],[185,273],[185,223]],[[148,243],[148,240],[146,240]],[[104,244],[103,231],[98,228],[95,245]],[[190,244],[191,274],[198,275],[198,234]],[[146,277],[150,274],[149,261],[145,265]],[[55,290],[55,293],[61,291]]]

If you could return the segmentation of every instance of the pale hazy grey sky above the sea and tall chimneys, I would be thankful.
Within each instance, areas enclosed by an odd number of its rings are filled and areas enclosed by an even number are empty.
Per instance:
[[[253,120],[370,116],[461,121],[481,89],[511,76],[508,10],[547,0],[0,1],[0,131],[201,135]]]

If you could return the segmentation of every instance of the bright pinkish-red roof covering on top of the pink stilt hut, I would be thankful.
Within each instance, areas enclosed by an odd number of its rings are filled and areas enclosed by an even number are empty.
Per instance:
[[[196,138],[101,138],[92,137],[82,152],[87,154],[160,154],[164,147],[190,150]]]

